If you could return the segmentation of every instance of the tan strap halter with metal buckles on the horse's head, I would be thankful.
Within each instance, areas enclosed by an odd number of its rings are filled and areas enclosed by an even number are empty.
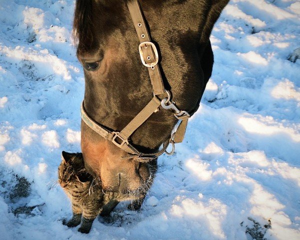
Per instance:
[[[174,152],[174,143],[182,142],[187,120],[190,115],[186,111],[180,110],[175,102],[171,101],[170,92],[164,89],[161,74],[158,67],[158,53],[153,42],[151,42],[150,35],[147,31],[138,0],[131,0],[127,2],[127,6],[134,23],[134,27],[140,41],[138,51],[141,62],[148,68],[152,88],[153,98],[148,104],[120,131],[109,131],[105,127],[99,125],[91,119],[84,109],[84,103],[81,104],[81,118],[91,129],[107,140],[112,141],[117,147],[128,152],[124,158],[133,158],[137,161],[149,161],[157,158],[163,152],[172,154]],[[157,95],[162,95],[164,98],[159,100]],[[143,153],[138,151],[129,141],[128,138],[132,133],[145,121],[149,116],[158,110],[161,106],[164,109],[171,109],[174,111],[174,116],[180,120],[180,123],[175,132],[173,132],[169,139],[163,142],[160,150],[154,153]],[[171,152],[167,152],[168,144],[172,144]]]

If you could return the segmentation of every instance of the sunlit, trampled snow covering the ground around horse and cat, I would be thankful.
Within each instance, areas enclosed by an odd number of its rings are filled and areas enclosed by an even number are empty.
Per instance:
[[[299,0],[231,0],[212,77],[142,210],[67,228],[61,150],[80,151],[73,0],[0,0],[0,239],[300,239]]]

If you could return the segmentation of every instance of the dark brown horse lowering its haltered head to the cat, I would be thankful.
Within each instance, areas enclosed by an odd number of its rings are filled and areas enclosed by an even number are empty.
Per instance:
[[[139,0],[152,42],[159,54],[164,86],[180,109],[190,115],[198,108],[211,75],[213,54],[209,35],[228,0]],[[85,77],[84,108],[91,119],[120,131],[151,100],[147,67],[140,61],[139,40],[127,0],[77,0],[74,34],[77,57]],[[159,96],[158,96],[159,97]],[[160,107],[161,108],[161,107]],[[160,109],[130,136],[142,152],[155,152],[166,141],[177,119]],[[148,162],[126,154],[81,121],[85,168],[99,177],[103,191],[129,194],[140,207],[156,171]],[[111,199],[104,214],[118,199]]]

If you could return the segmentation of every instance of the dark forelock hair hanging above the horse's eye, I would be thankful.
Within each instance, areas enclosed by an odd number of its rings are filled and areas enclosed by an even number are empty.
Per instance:
[[[93,41],[93,0],[76,0],[73,20],[73,37],[80,48],[90,47]]]

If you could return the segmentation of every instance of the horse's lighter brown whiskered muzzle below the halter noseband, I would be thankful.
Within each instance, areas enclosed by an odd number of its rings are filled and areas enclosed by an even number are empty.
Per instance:
[[[86,170],[100,177],[103,191],[118,192],[121,193],[118,198],[134,200],[150,187],[155,164],[122,158],[121,149],[99,137],[84,122],[81,123],[81,149]]]

